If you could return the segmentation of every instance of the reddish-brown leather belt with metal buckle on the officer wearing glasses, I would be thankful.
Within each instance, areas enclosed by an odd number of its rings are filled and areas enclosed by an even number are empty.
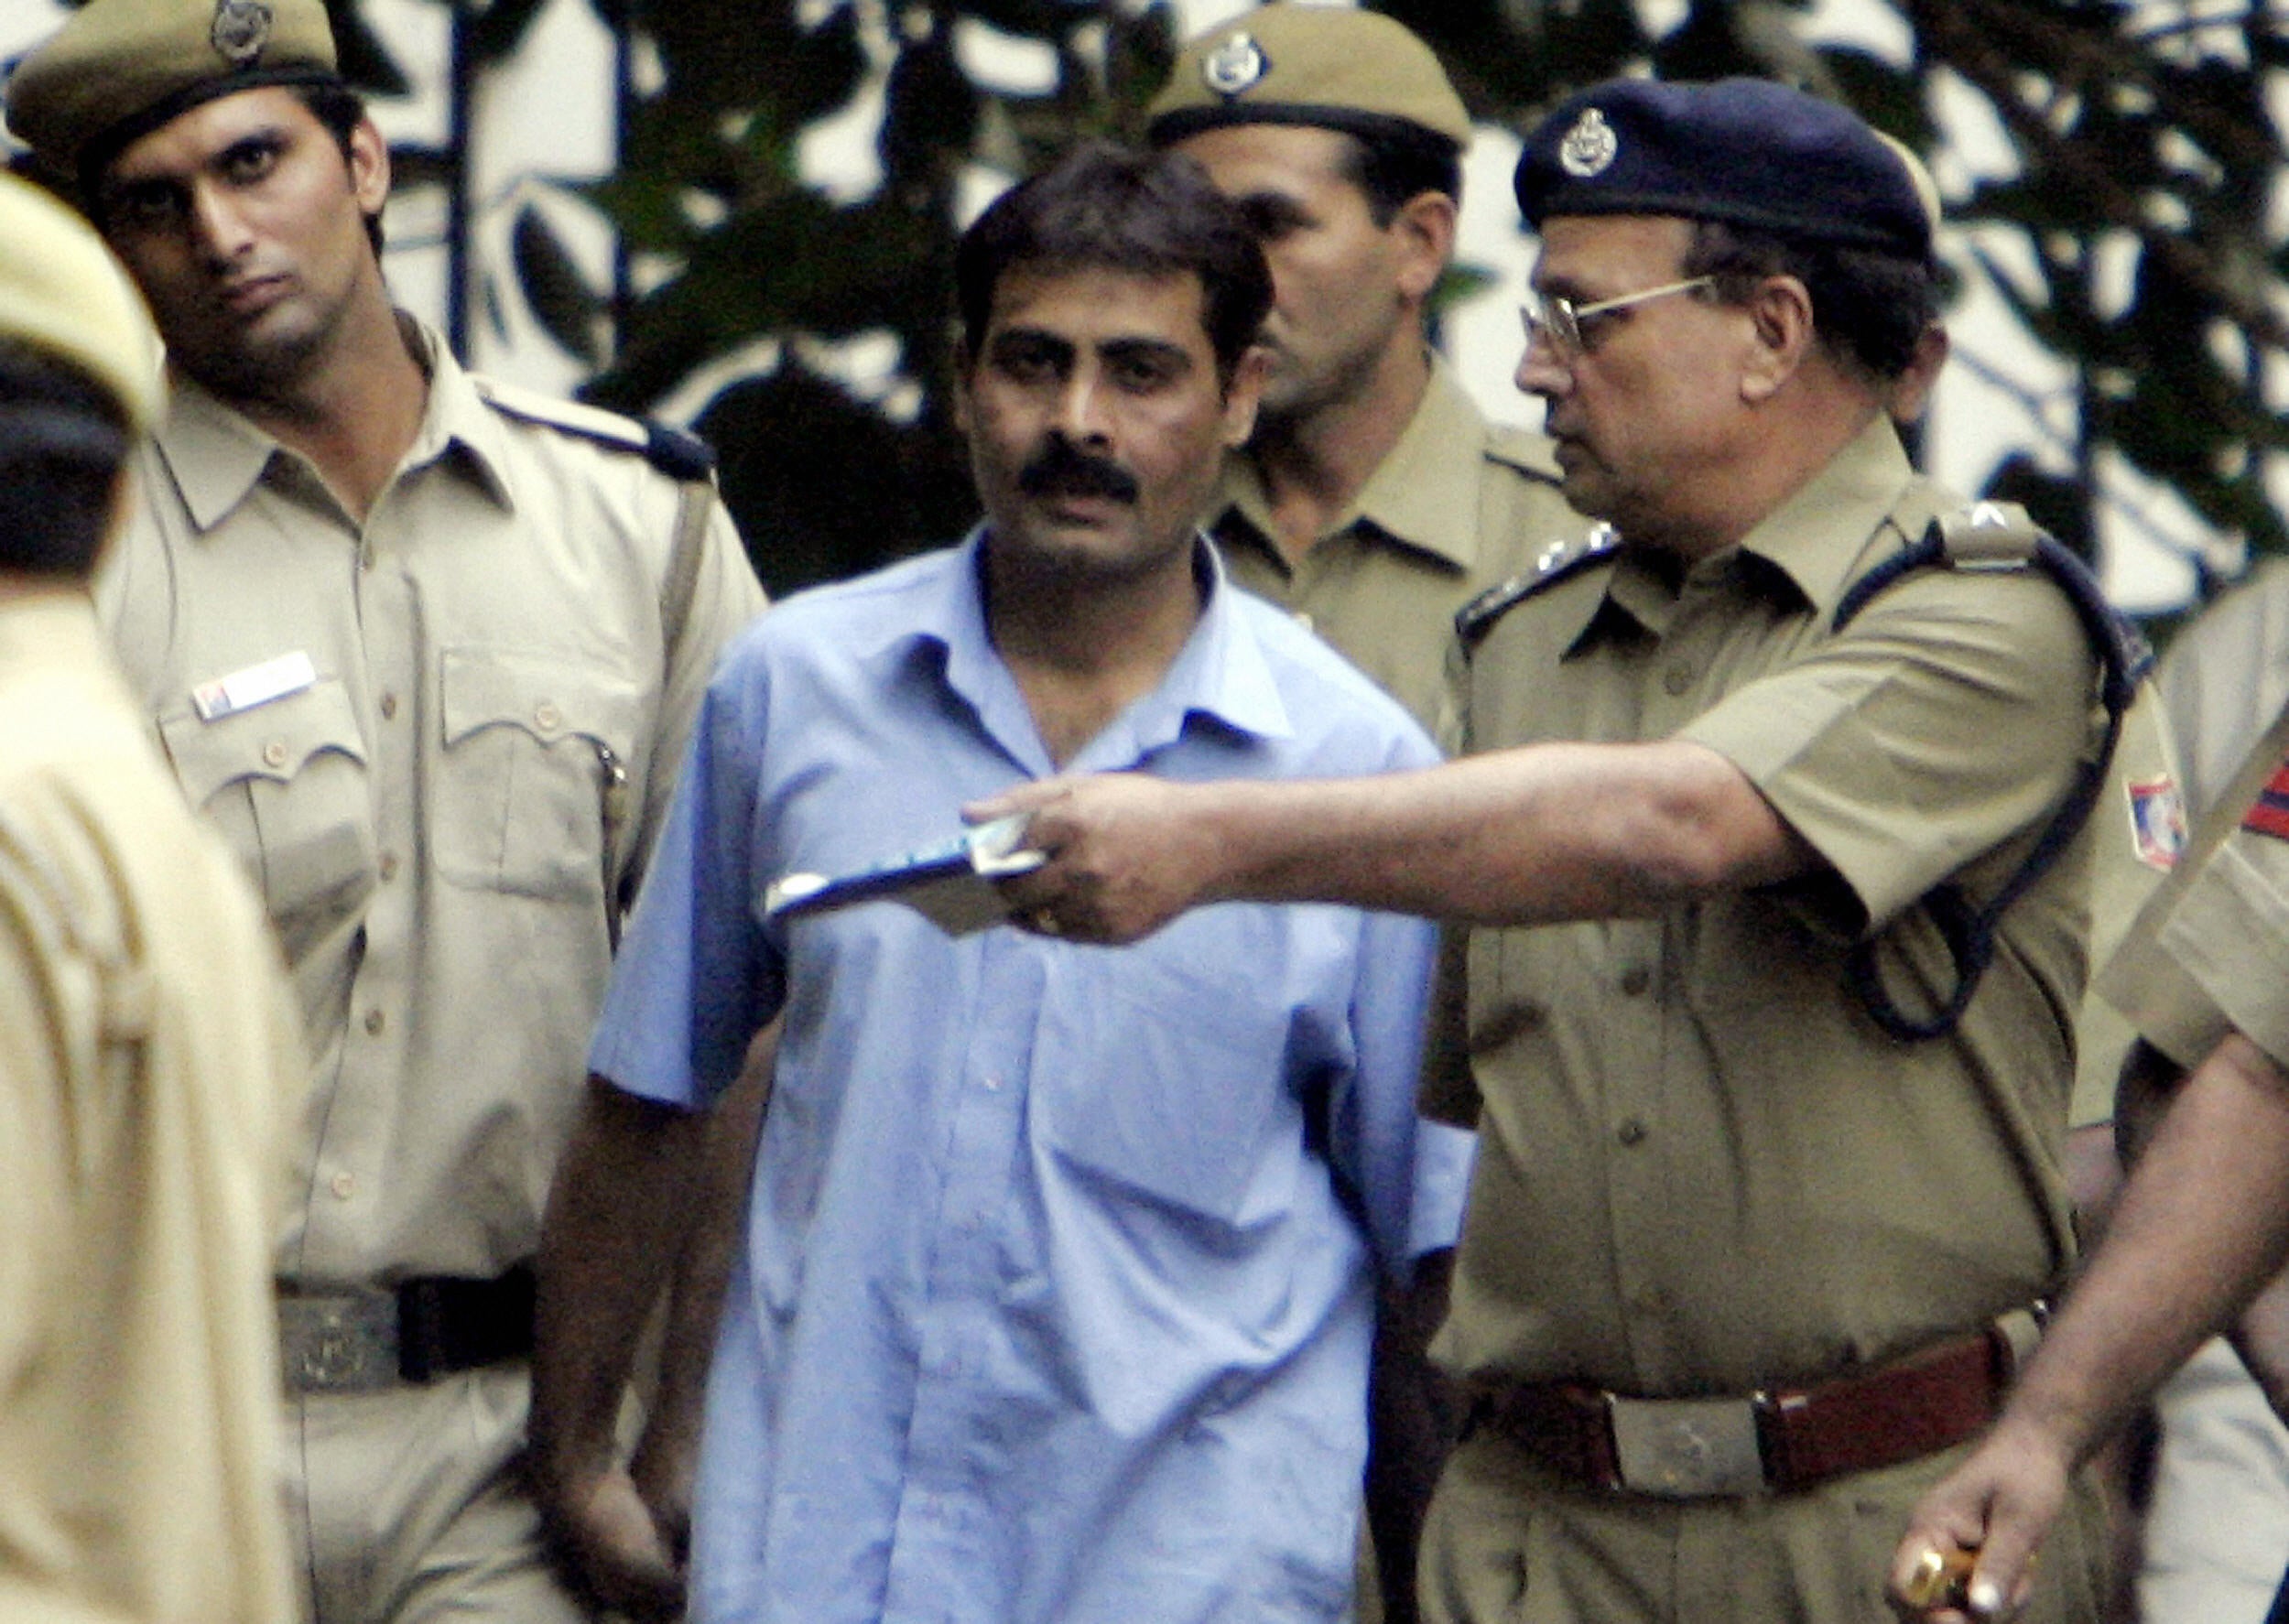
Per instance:
[[[1463,1436],[1492,1430],[1611,1494],[1788,1494],[1982,1432],[2033,1352],[2042,1313],[2042,1304],[2019,1308],[1875,1370],[1749,1398],[1625,1398],[1575,1382],[1479,1386]]]

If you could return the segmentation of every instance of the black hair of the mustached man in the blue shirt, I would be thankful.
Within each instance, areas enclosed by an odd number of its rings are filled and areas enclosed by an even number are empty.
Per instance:
[[[993,288],[1021,265],[1199,277],[1215,373],[1227,384],[1273,307],[1257,233],[1209,174],[1177,153],[1135,153],[1110,142],[1087,142],[1009,188],[961,233],[955,300],[964,364],[977,359]]]

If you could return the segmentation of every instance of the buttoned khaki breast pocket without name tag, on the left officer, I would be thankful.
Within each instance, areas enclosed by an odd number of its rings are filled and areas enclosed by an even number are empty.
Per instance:
[[[625,839],[636,785],[636,684],[561,652],[442,652],[444,748],[430,785],[430,849],[456,885],[597,901],[607,821]]]

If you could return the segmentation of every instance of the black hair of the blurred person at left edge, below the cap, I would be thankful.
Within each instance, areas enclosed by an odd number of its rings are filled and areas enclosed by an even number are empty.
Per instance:
[[[0,339],[0,570],[85,579],[130,444],[108,389],[46,350]]]

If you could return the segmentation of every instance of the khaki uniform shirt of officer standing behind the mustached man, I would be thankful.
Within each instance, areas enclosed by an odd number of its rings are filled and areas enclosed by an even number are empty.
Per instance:
[[[1488,423],[1444,359],[1405,432],[1337,524],[1291,560],[1245,451],[1211,526],[1238,586],[1296,613],[1449,748],[1454,613],[1589,526],[1557,489],[1550,441]]]

